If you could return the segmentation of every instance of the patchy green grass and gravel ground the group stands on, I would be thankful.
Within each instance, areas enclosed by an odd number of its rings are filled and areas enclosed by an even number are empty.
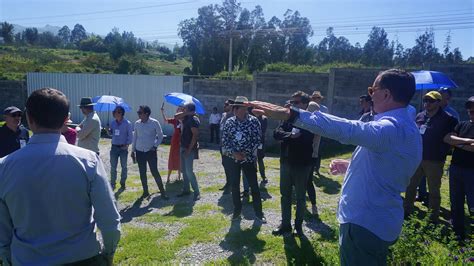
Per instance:
[[[320,218],[314,219],[309,212],[305,217],[307,238],[275,237],[271,231],[280,219],[278,158],[267,157],[266,169],[270,182],[262,195],[263,210],[268,224],[253,222],[251,203],[244,203],[244,219],[231,222],[230,196],[222,196],[220,185],[207,182],[220,179],[223,170],[218,153],[211,151],[208,171],[198,173],[202,200],[176,198],[181,183],[167,185],[172,196],[162,201],[154,194],[150,199],[138,199],[141,183],[137,176],[127,180],[127,190],[118,195],[121,209],[122,239],[115,255],[115,263],[136,264],[338,264],[338,224],[336,207],[343,177],[328,174],[333,158],[323,160],[322,176],[315,177],[317,204]],[[215,154],[214,154],[215,153]],[[349,158],[350,153],[338,156]],[[448,159],[448,161],[450,158]],[[215,168],[221,174],[215,175]],[[162,173],[163,178],[166,176]],[[155,188],[156,189],[156,188]],[[424,219],[427,208],[417,203],[419,217],[413,217],[404,225],[399,241],[392,246],[390,264],[461,264],[474,257],[472,242],[461,248],[450,238],[448,221],[448,180],[442,183],[442,222],[433,226]],[[308,202],[308,206],[310,203]],[[248,217],[246,215],[248,210]]]

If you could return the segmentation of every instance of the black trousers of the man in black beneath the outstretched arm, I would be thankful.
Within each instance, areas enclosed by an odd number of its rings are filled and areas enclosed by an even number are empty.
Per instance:
[[[296,191],[295,227],[303,224],[306,210],[306,185],[311,165],[292,165],[287,160],[280,160],[280,194],[281,194],[281,225],[291,227],[291,196],[293,186]]]

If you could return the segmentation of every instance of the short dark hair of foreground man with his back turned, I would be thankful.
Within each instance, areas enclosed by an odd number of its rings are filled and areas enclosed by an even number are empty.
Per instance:
[[[42,88],[26,100],[28,116],[40,127],[59,129],[69,115],[69,100],[53,88]]]

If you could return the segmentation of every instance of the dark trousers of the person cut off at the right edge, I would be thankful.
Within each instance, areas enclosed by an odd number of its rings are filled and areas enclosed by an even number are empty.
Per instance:
[[[474,168],[451,165],[449,168],[449,199],[454,232],[464,238],[465,199],[467,199],[469,213],[471,216],[474,215]]]

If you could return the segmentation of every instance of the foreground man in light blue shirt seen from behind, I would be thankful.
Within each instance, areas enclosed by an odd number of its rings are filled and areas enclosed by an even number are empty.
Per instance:
[[[112,263],[120,215],[99,156],[69,145],[60,133],[69,101],[58,90],[40,89],[28,97],[26,110],[34,135],[0,159],[3,264]]]

